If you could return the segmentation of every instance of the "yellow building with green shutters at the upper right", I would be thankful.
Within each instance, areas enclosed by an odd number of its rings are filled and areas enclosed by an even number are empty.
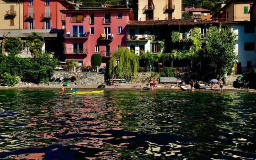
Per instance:
[[[222,11],[225,14],[224,21],[250,21],[250,7],[254,0],[231,0]]]

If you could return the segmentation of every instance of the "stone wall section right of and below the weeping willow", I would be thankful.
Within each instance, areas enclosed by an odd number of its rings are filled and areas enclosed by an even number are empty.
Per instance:
[[[150,80],[150,78],[154,78],[158,80],[159,78],[158,73],[150,73],[150,72],[138,73],[136,78],[128,81],[130,83],[147,83]]]

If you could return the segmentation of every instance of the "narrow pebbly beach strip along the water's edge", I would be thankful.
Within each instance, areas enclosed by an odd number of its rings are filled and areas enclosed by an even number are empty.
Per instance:
[[[78,88],[78,89],[83,89],[83,90],[140,90],[140,85],[146,86],[145,84],[142,83],[137,83],[137,84],[118,84],[118,87],[114,86],[106,86],[105,88],[97,88],[98,85],[74,85],[74,86],[67,86],[66,91],[70,90],[70,88]],[[171,84],[170,84],[171,85]],[[135,87],[136,86],[136,87]],[[164,86],[168,86],[167,84],[157,84],[156,90],[181,90],[179,87],[178,88],[164,88]],[[7,86],[0,86],[0,90],[61,90],[61,86],[49,86],[48,84],[27,84],[27,85],[16,85],[13,87],[7,87]],[[219,92],[219,88],[216,89],[206,89],[206,90],[200,90],[200,89],[194,89],[195,91],[206,91],[206,92]],[[254,89],[240,89],[240,88],[234,88],[233,86],[224,86],[223,92],[225,91],[240,91],[240,92],[256,92]],[[150,90],[148,90],[150,92]],[[188,86],[188,92],[192,92],[190,89],[190,86]]]

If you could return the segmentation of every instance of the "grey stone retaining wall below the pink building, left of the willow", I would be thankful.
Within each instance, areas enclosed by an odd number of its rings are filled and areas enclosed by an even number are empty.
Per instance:
[[[71,78],[74,76],[74,73],[77,74],[77,84],[84,85],[94,85],[104,83],[104,74],[99,74],[98,72],[62,72],[55,71],[53,77],[55,78]]]

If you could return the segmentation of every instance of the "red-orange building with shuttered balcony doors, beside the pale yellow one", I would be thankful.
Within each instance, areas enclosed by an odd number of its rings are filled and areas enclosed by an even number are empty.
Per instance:
[[[66,0],[24,0],[24,29],[63,29],[60,10],[73,9]]]

